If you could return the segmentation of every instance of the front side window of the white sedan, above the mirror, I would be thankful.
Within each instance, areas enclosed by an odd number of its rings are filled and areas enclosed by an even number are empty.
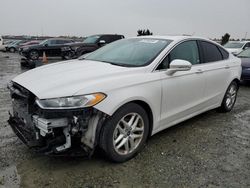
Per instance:
[[[182,59],[189,61],[192,65],[199,64],[199,50],[196,41],[186,41],[178,46],[176,46],[161,64],[157,67],[156,70],[162,70],[169,68],[169,64],[175,59]]]

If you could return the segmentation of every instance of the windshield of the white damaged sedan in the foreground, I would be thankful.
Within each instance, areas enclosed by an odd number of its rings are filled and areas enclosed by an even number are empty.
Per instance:
[[[145,66],[170,43],[171,40],[163,39],[122,39],[92,52],[85,59],[126,67]]]

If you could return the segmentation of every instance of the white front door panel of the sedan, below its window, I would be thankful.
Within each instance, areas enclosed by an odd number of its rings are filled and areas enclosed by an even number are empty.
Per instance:
[[[199,72],[200,67],[201,65],[196,65],[190,71],[180,71],[173,75],[161,73],[161,126],[166,128],[176,119],[201,109],[204,102],[205,79]],[[159,128],[155,127],[156,130]]]

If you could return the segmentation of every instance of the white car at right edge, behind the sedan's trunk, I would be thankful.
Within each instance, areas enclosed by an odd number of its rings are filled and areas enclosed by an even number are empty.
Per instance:
[[[224,47],[234,55],[250,47],[250,41],[229,41]]]

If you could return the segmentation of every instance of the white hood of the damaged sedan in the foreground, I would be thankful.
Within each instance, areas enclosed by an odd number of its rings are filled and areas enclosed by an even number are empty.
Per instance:
[[[136,68],[126,68],[109,63],[88,60],[71,60],[54,63],[27,71],[12,81],[25,87],[40,99],[103,92],[100,86]],[[109,84],[110,85],[110,84]],[[77,93],[81,91],[81,93]]]

